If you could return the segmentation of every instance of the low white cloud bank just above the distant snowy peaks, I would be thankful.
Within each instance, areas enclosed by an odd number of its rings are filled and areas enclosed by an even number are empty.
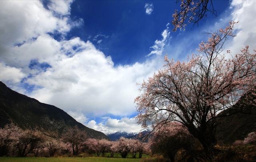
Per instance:
[[[125,132],[140,132],[142,129],[140,125],[138,125],[135,118],[121,118],[121,119],[112,119],[108,118],[105,122],[96,123],[95,120],[91,120],[86,124],[89,128],[94,130],[98,130],[105,134],[114,133],[117,131],[125,131]]]

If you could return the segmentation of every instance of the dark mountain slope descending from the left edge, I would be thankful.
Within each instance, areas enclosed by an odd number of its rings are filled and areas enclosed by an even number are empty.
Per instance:
[[[38,128],[58,136],[68,128],[78,126],[91,138],[107,138],[104,133],[77,122],[60,108],[19,94],[0,82],[0,127],[11,122],[21,128]]]

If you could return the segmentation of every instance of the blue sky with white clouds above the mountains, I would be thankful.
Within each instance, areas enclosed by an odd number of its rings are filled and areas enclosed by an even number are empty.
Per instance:
[[[230,20],[225,49],[255,47],[256,1],[215,0],[217,15],[172,32],[174,1],[0,1],[0,80],[105,134],[139,132],[138,84],[167,54],[186,60]],[[137,84],[138,83],[138,84]]]

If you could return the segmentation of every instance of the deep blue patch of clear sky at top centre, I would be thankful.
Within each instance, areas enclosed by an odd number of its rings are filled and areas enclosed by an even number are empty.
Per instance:
[[[150,15],[145,13],[146,3],[154,6]],[[220,15],[228,8],[229,1],[214,1],[214,6]],[[176,4],[175,0],[77,0],[71,5],[70,17],[74,20],[82,18],[84,25],[71,30],[66,38],[78,36],[82,40],[90,40],[105,55],[111,56],[115,64],[143,62],[145,56],[150,53],[150,46],[161,38],[161,32],[166,28],[166,24],[171,22],[174,9],[178,7],[179,4]],[[208,18],[200,22],[200,26],[216,19],[218,17],[209,13]],[[180,37],[184,38],[192,30],[198,30],[197,25],[188,26]],[[178,34],[180,32],[172,32],[171,36],[175,39]],[[102,42],[97,43],[99,40]]]

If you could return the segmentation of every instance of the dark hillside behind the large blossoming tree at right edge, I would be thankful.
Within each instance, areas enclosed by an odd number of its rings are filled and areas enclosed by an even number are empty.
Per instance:
[[[256,131],[255,101],[256,96],[247,94],[233,108],[217,115],[219,117],[216,128],[218,143],[232,144],[236,140],[244,140],[250,132]]]

